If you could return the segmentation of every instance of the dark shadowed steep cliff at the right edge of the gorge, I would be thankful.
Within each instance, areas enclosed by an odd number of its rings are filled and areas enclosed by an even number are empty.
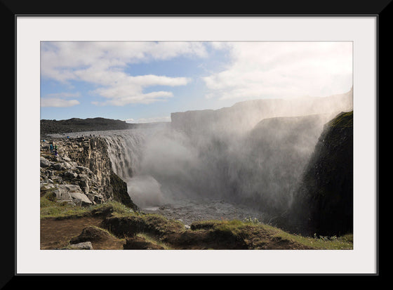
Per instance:
[[[284,215],[284,228],[305,235],[353,230],[353,112],[329,121]]]

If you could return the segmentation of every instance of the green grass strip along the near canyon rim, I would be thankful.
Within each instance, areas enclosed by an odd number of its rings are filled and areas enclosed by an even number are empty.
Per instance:
[[[154,238],[152,233],[164,232],[181,232],[185,230],[184,225],[178,220],[168,220],[158,214],[146,214],[133,211],[119,202],[107,202],[93,206],[81,207],[72,206],[66,203],[53,202],[53,195],[48,194],[41,197],[41,218],[79,218],[89,215],[100,215],[112,213],[114,217],[130,217],[136,225],[139,225],[141,231],[138,235],[143,235],[145,239],[157,244],[159,239]],[[150,229],[150,230],[148,230]],[[241,239],[252,241],[251,244],[258,245],[267,241],[267,238],[279,238],[290,242],[312,247],[313,249],[353,249],[353,235],[342,237],[303,237],[293,235],[271,225],[260,223],[256,219],[245,220],[203,220],[192,223],[192,230],[213,231],[220,237],[239,237]],[[150,233],[149,233],[150,232]],[[168,245],[161,244],[166,249]]]

